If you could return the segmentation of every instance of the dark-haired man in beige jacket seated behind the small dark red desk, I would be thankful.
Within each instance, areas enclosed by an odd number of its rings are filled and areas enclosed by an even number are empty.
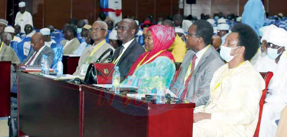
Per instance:
[[[65,40],[61,41],[63,44],[64,55],[73,54],[73,52],[80,46],[80,41],[76,38],[77,27],[73,24],[68,24],[64,29]]]

